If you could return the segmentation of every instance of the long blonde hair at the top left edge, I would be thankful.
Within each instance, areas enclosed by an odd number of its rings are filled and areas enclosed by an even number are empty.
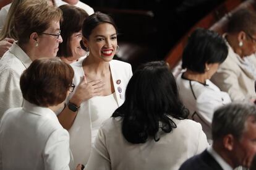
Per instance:
[[[14,38],[17,40],[17,36],[14,31],[14,14],[17,7],[23,2],[24,0],[13,0],[9,12],[6,16],[6,22],[4,23],[4,27],[0,33],[0,40],[4,40],[4,38]]]

